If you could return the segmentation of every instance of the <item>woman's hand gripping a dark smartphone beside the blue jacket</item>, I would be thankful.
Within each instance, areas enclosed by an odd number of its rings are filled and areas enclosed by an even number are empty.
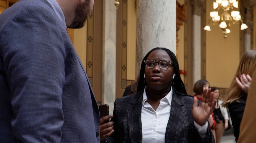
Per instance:
[[[108,122],[104,124],[105,121],[109,121],[109,119],[112,117],[113,115],[108,115],[100,118],[100,140],[109,137],[114,132],[114,122]]]

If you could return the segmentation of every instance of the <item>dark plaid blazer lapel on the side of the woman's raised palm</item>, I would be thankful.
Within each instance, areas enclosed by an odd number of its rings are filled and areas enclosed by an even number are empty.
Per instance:
[[[182,95],[177,95],[175,91],[172,94],[172,103],[171,103],[171,113],[169,121],[166,127],[165,141],[167,142],[177,142],[182,126],[183,121],[186,115],[186,110],[184,108],[184,101]]]

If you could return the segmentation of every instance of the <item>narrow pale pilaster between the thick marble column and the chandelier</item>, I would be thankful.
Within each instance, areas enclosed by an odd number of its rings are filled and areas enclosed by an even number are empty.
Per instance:
[[[192,70],[193,85],[201,79],[201,12],[204,0],[192,0]]]

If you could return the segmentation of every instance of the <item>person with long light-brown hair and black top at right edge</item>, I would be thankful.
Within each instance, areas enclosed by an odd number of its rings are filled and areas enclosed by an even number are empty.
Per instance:
[[[247,93],[252,81],[251,76],[253,74],[255,55],[256,50],[249,50],[244,53],[223,103],[223,106],[229,109],[236,142],[239,137],[240,123],[244,113]],[[243,86],[242,83],[244,84]]]

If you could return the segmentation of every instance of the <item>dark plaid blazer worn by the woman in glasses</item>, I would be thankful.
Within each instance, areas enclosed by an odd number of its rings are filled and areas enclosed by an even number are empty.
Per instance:
[[[143,91],[117,98],[114,104],[115,132],[103,142],[109,143],[142,143],[142,109]],[[192,115],[193,97],[173,92],[171,113],[166,128],[166,143],[214,143],[208,125],[207,134],[201,138],[194,126]],[[200,105],[200,102],[198,102]]]

